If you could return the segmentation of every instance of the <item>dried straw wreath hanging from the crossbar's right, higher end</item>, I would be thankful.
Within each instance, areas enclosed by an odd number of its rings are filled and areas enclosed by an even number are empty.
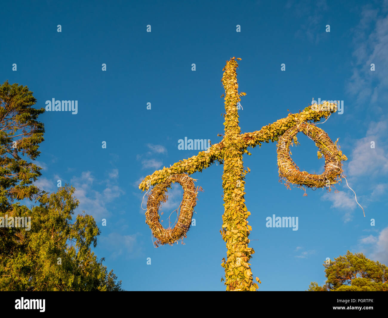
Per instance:
[[[310,137],[315,145],[319,148],[321,154],[325,158],[325,171],[322,175],[312,175],[306,171],[300,171],[298,166],[290,157],[290,145],[298,132],[302,132]],[[277,166],[279,167],[279,177],[288,180],[286,186],[289,188],[289,183],[294,183],[301,187],[330,187],[337,183],[342,173],[341,160],[346,160],[346,156],[338,149],[337,142],[329,138],[327,133],[318,128],[314,124],[300,123],[288,129],[277,142]]]

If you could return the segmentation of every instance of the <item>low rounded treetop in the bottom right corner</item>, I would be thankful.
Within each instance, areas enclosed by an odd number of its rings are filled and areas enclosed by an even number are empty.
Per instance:
[[[312,282],[308,291],[388,291],[388,267],[362,253],[348,251],[323,266],[326,284]]]

